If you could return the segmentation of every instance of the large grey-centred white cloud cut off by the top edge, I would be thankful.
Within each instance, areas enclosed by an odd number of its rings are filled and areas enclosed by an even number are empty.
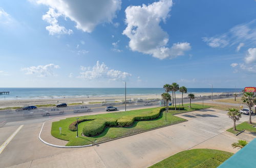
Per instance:
[[[121,0],[34,1],[57,10],[64,17],[74,21],[77,29],[89,33],[100,23],[111,23],[116,17],[116,12],[121,9]]]

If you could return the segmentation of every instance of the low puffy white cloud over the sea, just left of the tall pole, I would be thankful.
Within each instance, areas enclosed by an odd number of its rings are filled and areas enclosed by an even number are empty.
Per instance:
[[[84,79],[97,79],[97,78],[106,78],[110,80],[125,80],[126,78],[132,76],[132,74],[127,72],[122,72],[119,70],[110,69],[104,63],[100,64],[97,61],[96,65],[91,67],[81,66],[80,78]]]

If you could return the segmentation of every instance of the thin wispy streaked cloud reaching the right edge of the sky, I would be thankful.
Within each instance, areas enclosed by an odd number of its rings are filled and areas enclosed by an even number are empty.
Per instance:
[[[203,37],[202,39],[212,48],[223,48],[239,44],[236,49],[239,51],[245,44],[256,44],[256,20],[233,26],[228,32],[221,35]]]

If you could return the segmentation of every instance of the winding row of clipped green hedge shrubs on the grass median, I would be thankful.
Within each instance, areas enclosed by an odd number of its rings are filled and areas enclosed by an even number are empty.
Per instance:
[[[124,116],[120,119],[115,118],[102,118],[102,119],[82,119],[78,120],[78,123],[84,121],[90,121],[83,127],[82,133],[86,136],[96,136],[104,131],[106,127],[119,126],[119,127],[127,127],[133,125],[134,121],[147,121],[156,119],[160,116],[160,113],[165,110],[165,107],[157,108],[151,110],[150,113],[146,115],[138,114],[138,116]],[[77,121],[71,123],[69,125],[70,131],[77,130]]]

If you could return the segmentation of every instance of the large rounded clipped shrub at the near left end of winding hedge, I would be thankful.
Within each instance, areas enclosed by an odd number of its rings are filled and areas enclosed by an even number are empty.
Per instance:
[[[82,133],[86,136],[96,136],[103,132],[105,124],[103,119],[93,120],[83,127]]]

